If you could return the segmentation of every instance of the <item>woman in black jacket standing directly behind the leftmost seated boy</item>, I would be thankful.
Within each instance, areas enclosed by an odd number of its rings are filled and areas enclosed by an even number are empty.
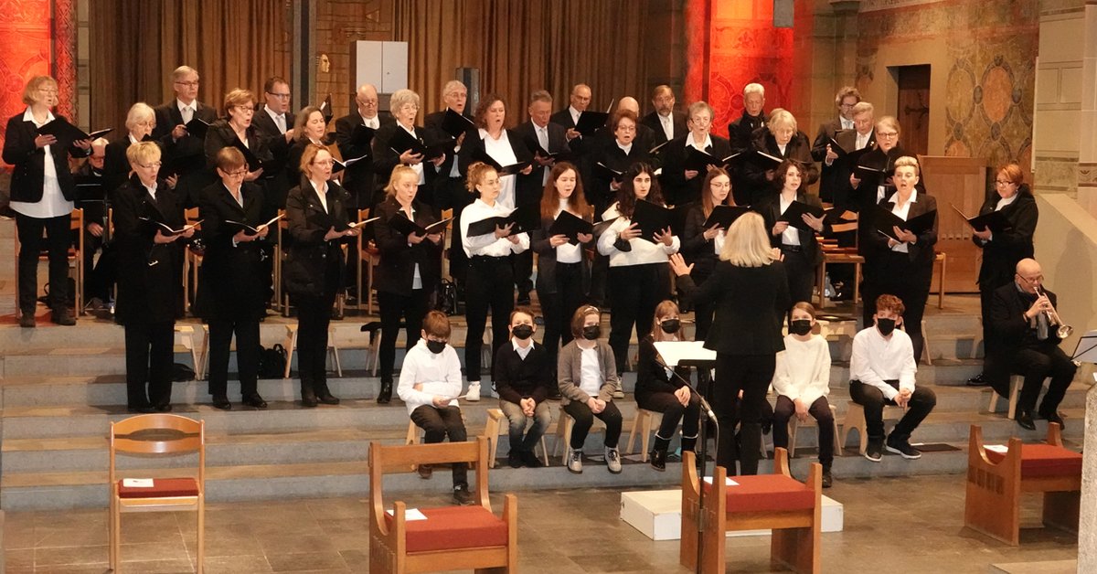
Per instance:
[[[381,251],[373,285],[377,289],[381,307],[381,393],[377,403],[387,404],[393,396],[393,363],[396,361],[396,337],[400,318],[405,329],[405,348],[419,341],[422,318],[427,315],[430,295],[434,292],[442,268],[442,233],[422,233],[438,222],[430,206],[416,201],[419,175],[408,166],[396,166],[385,191],[388,196],[377,204],[374,241]]]

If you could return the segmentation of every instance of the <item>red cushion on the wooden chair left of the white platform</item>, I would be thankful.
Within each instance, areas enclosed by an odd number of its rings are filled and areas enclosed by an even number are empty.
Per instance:
[[[507,522],[483,506],[420,508],[426,520],[408,520],[407,551],[456,550],[507,545]],[[385,513],[392,528],[393,516]]]

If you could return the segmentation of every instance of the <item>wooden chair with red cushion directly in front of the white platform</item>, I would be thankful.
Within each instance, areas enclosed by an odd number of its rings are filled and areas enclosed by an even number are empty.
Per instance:
[[[770,562],[800,573],[816,573],[819,567],[819,531],[823,508],[823,466],[812,463],[807,481],[801,483],[789,473],[789,453],[773,450],[773,473],[733,476],[736,485],[726,484],[727,471],[715,466],[712,484],[697,475],[697,459],[682,453],[682,517],[679,562],[694,572],[724,572],[725,542],[730,531],[772,530]],[[698,532],[698,513],[704,497],[704,529]],[[698,570],[697,549],[704,555]]]

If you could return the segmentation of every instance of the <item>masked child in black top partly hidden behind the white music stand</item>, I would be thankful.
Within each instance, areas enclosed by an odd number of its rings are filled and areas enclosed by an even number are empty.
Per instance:
[[[652,331],[641,339],[636,359],[636,405],[663,413],[663,424],[655,432],[649,461],[657,471],[667,470],[667,449],[678,423],[682,424],[682,452],[697,446],[701,398],[689,386],[689,368],[670,369],[655,350],[656,341],[678,341],[681,337],[678,305],[664,301],[655,307]]]

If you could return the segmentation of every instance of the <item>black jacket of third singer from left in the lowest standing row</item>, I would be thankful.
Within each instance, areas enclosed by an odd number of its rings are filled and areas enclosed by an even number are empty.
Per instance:
[[[291,294],[325,296],[342,284],[344,266],[340,245],[354,238],[328,241],[324,236],[331,227],[344,228],[353,221],[350,201],[347,190],[335,181],[328,182],[328,211],[324,211],[310,182],[304,181],[290,190],[285,216],[290,221],[292,243],[282,267],[282,284]],[[329,274],[339,277],[336,284],[328,284]]]

